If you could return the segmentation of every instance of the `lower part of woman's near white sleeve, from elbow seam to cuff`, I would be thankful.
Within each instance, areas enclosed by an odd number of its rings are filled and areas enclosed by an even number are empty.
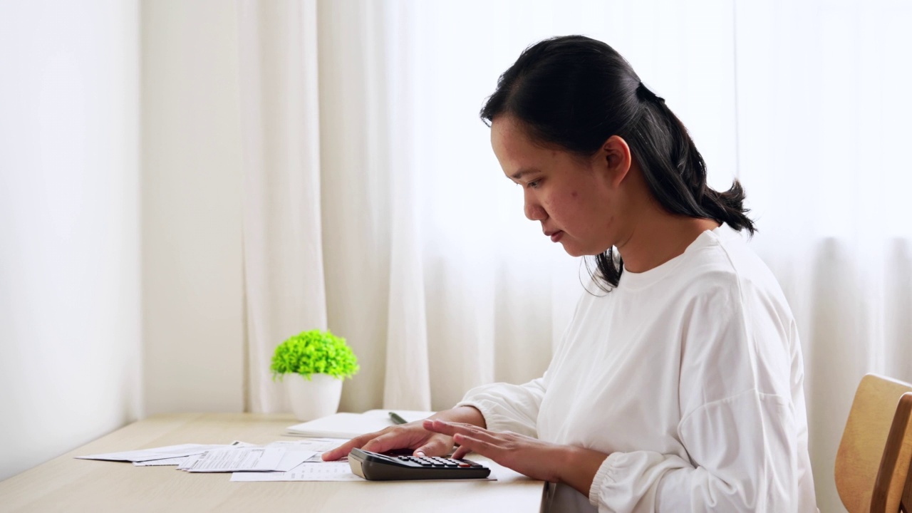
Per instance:
[[[589,492],[600,511],[795,511],[794,430],[788,404],[756,391],[690,414],[679,435],[691,461],[613,453]]]

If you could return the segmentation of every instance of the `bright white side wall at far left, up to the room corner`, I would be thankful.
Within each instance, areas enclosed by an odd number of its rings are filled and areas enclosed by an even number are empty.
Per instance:
[[[138,10],[0,2],[0,479],[140,415]]]

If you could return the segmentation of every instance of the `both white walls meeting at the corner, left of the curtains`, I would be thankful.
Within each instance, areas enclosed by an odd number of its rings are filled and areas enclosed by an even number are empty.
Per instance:
[[[0,479],[243,410],[236,16],[0,2]]]

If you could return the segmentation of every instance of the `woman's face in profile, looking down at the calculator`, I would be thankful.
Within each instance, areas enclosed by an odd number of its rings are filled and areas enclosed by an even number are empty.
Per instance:
[[[615,244],[617,213],[623,205],[617,194],[617,165],[613,167],[606,152],[584,159],[544,148],[510,116],[492,120],[491,145],[503,173],[523,187],[525,216],[540,222],[545,236],[574,257],[597,255]]]

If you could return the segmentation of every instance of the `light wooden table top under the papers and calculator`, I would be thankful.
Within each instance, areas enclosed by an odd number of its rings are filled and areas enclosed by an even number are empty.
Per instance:
[[[232,483],[230,474],[189,474],[173,466],[74,459],[177,444],[264,445],[297,424],[285,414],[164,414],[130,424],[0,482],[0,511],[484,511],[536,513],[542,481],[472,455],[497,481]]]

